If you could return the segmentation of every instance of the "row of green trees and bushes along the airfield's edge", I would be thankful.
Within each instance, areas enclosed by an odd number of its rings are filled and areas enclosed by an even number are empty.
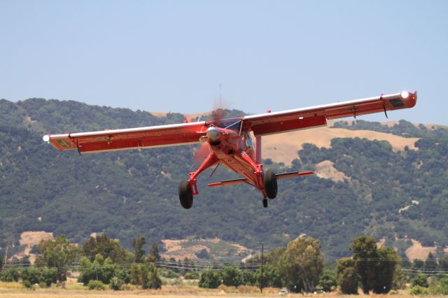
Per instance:
[[[309,236],[298,237],[288,246],[269,250],[265,257],[255,255],[239,264],[218,264],[212,260],[200,263],[187,258],[165,260],[157,243],[152,243],[148,253],[145,245],[145,237],[139,236],[132,239],[133,250],[126,250],[117,239],[100,234],[78,247],[61,235],[38,244],[33,265],[26,257],[3,268],[0,262],[0,280],[22,281],[27,288],[36,284],[48,287],[64,283],[71,271],[79,271],[78,282],[97,290],[106,286],[120,290],[127,284],[158,289],[162,287],[162,278],[182,276],[197,280],[201,288],[253,285],[288,288],[291,292],[330,292],[339,288],[344,294],[358,294],[360,287],[365,294],[386,294],[409,282],[411,292],[417,294],[448,293],[448,257],[437,260],[430,253],[426,261],[409,262],[402,260],[393,248],[378,248],[371,236],[353,240],[351,257],[326,264],[321,241]],[[198,255],[204,257],[201,260],[210,257],[204,252]],[[407,271],[402,269],[403,264]]]

